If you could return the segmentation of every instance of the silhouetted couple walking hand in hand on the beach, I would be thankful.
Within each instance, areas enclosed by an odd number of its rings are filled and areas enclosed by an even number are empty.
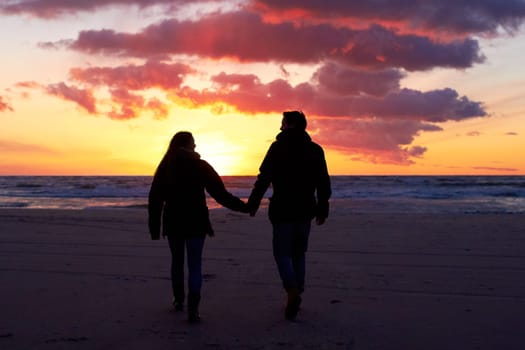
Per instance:
[[[299,311],[311,221],[325,222],[331,195],[323,149],[306,132],[302,112],[283,113],[281,132],[259,170],[246,204],[226,190],[217,172],[195,152],[191,133],[178,132],[155,172],[149,193],[149,231],[152,239],[159,239],[162,222],[172,256],[173,305],[179,311],[185,301],[187,255],[190,322],[200,320],[202,250],[205,237],[213,236],[205,191],[222,206],[254,216],[270,184],[273,195],[268,215],[273,227],[273,255],[288,297],[286,319],[295,319]]]

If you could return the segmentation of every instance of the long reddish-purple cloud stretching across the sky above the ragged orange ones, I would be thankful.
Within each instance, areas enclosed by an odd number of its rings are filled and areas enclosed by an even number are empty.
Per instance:
[[[293,43],[291,45],[290,43]],[[484,60],[477,41],[437,42],[373,25],[349,29],[328,24],[267,23],[256,13],[213,14],[199,21],[165,20],[139,33],[86,30],[70,48],[133,57],[197,55],[241,62],[319,63],[331,59],[373,69],[468,68]]]

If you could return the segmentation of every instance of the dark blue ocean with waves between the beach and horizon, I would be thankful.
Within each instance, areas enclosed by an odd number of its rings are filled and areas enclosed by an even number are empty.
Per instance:
[[[0,176],[0,208],[146,208],[151,179]],[[223,181],[246,199],[255,177],[224,176]],[[344,201],[340,207],[355,213],[525,213],[525,176],[333,176],[331,181],[332,207]],[[208,206],[220,207],[212,198]]]

